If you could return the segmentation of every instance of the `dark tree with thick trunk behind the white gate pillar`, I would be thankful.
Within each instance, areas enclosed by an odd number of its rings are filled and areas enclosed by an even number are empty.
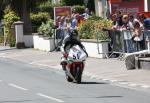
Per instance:
[[[47,0],[0,0],[2,9],[10,5],[11,9],[14,10],[24,22],[24,32],[31,33],[31,22],[30,22],[30,9],[35,7],[38,3],[45,2]]]

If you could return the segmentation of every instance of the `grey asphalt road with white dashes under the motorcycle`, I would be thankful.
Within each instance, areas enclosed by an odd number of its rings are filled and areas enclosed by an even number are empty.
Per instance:
[[[0,103],[150,103],[149,96],[86,76],[68,83],[62,70],[0,58]]]

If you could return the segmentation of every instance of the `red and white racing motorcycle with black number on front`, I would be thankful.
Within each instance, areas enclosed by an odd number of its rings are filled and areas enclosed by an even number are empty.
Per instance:
[[[65,68],[66,79],[68,82],[81,83],[87,54],[78,45],[69,49],[68,54],[64,54],[66,63],[62,65]]]

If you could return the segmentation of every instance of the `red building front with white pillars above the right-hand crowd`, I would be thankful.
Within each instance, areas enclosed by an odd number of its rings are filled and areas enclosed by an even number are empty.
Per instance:
[[[150,14],[150,0],[95,0],[97,16],[105,18],[116,10],[124,13],[146,12]]]

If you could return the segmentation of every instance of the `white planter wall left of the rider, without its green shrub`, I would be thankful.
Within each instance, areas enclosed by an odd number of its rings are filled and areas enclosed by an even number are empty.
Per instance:
[[[34,49],[43,51],[53,51],[55,48],[54,38],[43,37],[42,35],[33,35]]]

